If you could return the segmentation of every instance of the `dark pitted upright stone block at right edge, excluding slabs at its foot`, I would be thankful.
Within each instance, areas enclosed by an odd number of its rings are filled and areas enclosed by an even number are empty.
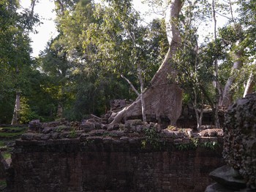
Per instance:
[[[256,190],[256,93],[238,99],[225,116],[223,157]]]

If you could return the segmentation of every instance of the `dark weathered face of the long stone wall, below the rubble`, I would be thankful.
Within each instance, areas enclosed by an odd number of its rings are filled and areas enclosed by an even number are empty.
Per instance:
[[[224,163],[222,137],[161,134],[159,145],[123,131],[26,134],[12,154],[9,191],[204,191],[209,172]]]

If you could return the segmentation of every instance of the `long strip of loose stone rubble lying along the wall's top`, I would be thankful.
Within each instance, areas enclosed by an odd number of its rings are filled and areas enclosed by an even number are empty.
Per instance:
[[[49,123],[40,123],[39,120],[32,120],[29,123],[29,131],[21,136],[23,141],[42,141],[52,142],[56,139],[97,139],[109,140],[110,142],[129,141],[141,142],[145,139],[145,133],[148,129],[154,129],[154,137],[159,138],[159,142],[173,142],[174,145],[189,145],[193,138],[201,143],[223,142],[222,129],[206,129],[200,133],[193,132],[191,128],[170,127],[162,129],[158,123],[143,123],[140,119],[126,120],[118,124],[103,124],[102,118],[91,115],[91,118],[82,122],[67,122],[67,120],[54,121]]]

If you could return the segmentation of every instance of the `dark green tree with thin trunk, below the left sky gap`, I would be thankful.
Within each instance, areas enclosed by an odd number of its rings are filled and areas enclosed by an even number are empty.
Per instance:
[[[48,47],[39,55],[38,62],[42,73],[48,77],[48,92],[57,102],[57,118],[63,118],[64,105],[69,103],[69,81],[72,74],[72,62],[67,59],[67,52],[58,43],[59,37],[48,42]],[[45,89],[46,91],[46,89]]]

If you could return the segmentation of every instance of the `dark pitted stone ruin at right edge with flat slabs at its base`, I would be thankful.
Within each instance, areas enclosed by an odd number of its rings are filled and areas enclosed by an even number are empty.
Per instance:
[[[206,192],[256,191],[256,93],[238,99],[225,115],[223,158]]]

